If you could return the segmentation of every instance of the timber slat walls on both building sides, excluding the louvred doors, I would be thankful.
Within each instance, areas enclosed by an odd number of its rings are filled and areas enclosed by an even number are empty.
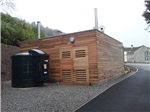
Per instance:
[[[74,43],[69,41],[72,36]],[[20,52],[40,49],[49,54],[50,80],[60,81],[60,47],[66,46],[88,46],[89,82],[99,82],[124,72],[122,43],[97,30],[22,42]]]

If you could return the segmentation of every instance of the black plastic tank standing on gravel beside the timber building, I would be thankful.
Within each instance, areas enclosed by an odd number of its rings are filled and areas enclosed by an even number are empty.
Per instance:
[[[12,87],[34,87],[49,79],[49,55],[38,49],[18,53],[12,58]]]

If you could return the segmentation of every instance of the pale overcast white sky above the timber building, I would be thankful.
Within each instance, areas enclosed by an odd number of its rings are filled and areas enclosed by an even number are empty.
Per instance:
[[[95,26],[94,8],[98,12],[98,26],[124,47],[150,47],[144,0],[16,0],[15,17],[28,22],[40,21],[44,27],[65,33],[90,30]]]

